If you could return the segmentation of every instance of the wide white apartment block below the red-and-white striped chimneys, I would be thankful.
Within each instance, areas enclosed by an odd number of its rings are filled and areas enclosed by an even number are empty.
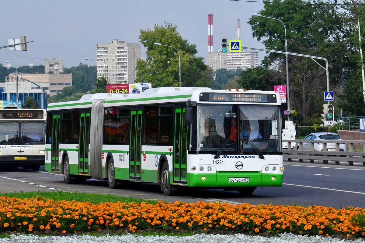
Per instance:
[[[242,52],[208,52],[208,66],[216,71],[220,68],[226,68],[228,71],[238,68],[246,69],[258,67],[258,51]]]

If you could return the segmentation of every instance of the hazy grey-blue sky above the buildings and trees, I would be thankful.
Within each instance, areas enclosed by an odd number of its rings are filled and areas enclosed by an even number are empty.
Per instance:
[[[96,65],[96,44],[112,39],[139,43],[139,30],[153,30],[164,21],[177,25],[177,31],[197,46],[197,56],[208,58],[208,14],[213,14],[213,48],[220,49],[221,38],[235,40],[237,19],[241,19],[242,46],[264,48],[252,38],[249,17],[263,3],[227,0],[63,0],[1,1],[0,46],[8,39],[27,36],[28,51],[0,49],[0,63],[16,66],[44,65],[45,59],[62,59],[64,67],[80,62]],[[104,10],[110,9],[108,15]],[[161,43],[164,44],[164,43]],[[141,56],[146,58],[141,45]],[[265,52],[259,52],[259,60]]]

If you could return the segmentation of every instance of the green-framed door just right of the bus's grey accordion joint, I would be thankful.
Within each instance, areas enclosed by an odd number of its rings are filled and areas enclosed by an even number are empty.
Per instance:
[[[131,111],[129,179],[141,180],[142,110]]]

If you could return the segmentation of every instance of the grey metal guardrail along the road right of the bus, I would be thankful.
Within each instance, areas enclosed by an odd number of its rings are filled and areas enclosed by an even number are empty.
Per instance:
[[[349,165],[354,165],[354,162],[362,162],[362,166],[365,166],[365,140],[342,140],[342,141],[324,141],[324,140],[294,140],[296,146],[294,149],[283,149],[283,157],[288,161],[292,159],[299,159],[299,162],[303,160],[309,160],[314,163],[314,160],[322,160],[323,164],[328,164],[328,160],[334,160],[336,165],[340,164],[340,161],[347,161]],[[293,140],[283,140],[283,142],[293,142]],[[303,142],[310,143],[311,150],[303,150]],[[314,143],[320,142],[323,144],[323,151],[314,150]],[[339,145],[348,144],[349,151],[341,152]],[[327,144],[335,144],[335,151],[328,151]],[[362,144],[363,151],[354,151],[354,144]],[[299,146],[299,149],[297,147]]]

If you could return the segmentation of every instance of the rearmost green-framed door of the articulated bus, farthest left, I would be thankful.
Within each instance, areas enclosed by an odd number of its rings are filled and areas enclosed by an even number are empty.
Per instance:
[[[51,134],[51,172],[59,172],[59,124],[61,115],[53,115]]]

